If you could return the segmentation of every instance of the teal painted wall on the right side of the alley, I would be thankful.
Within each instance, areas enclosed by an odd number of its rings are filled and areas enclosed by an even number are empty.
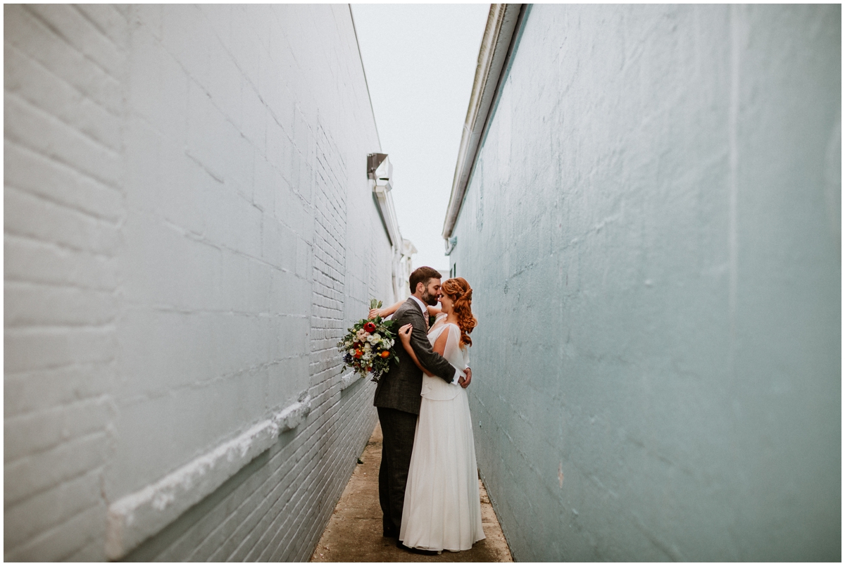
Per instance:
[[[841,558],[840,6],[536,5],[450,256],[518,560]]]

